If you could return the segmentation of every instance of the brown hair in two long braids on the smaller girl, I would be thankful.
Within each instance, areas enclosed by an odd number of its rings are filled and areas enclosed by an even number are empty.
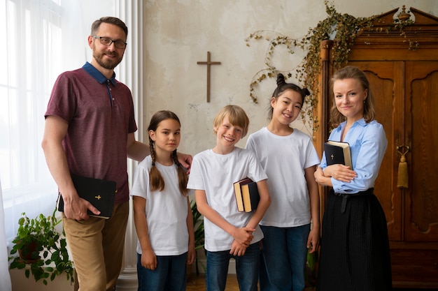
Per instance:
[[[166,119],[174,119],[178,121],[178,124],[180,124],[181,126],[181,122],[179,121],[178,117],[174,112],[171,112],[169,110],[161,110],[156,112],[153,115],[153,117],[150,119],[148,131],[157,130],[157,127],[160,124],[160,122]],[[164,179],[160,171],[155,166],[155,158],[156,158],[155,142],[152,140],[152,138],[150,138],[150,136],[149,136],[149,149],[150,149],[150,156],[152,157],[152,167],[150,168],[149,171],[150,188],[152,189],[152,191],[163,191],[165,186]],[[188,175],[178,161],[178,156],[176,155],[176,149],[172,151],[171,158],[174,161],[176,167],[178,168],[178,185],[181,191],[181,195],[185,196],[188,193],[188,188],[187,188]]]

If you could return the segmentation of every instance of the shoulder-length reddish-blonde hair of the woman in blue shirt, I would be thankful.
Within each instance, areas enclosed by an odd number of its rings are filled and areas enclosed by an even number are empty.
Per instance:
[[[367,79],[367,76],[358,67],[346,66],[337,70],[337,72],[334,73],[330,82],[330,86],[332,88],[332,108],[330,109],[330,123],[332,124],[332,126],[337,127],[339,126],[339,124],[341,124],[341,122],[346,120],[346,117],[344,117],[344,115],[342,115],[341,112],[339,112],[339,110],[337,109],[336,103],[334,102],[333,94],[334,82],[344,79],[358,80],[362,85],[362,88],[364,90],[368,90],[368,95],[367,98],[365,98],[363,105],[363,118],[367,123],[373,121],[376,117],[376,110],[374,109],[374,95],[371,91],[371,88],[369,88],[369,81]]]

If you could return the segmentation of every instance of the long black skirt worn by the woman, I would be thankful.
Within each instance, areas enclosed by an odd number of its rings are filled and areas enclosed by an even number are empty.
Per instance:
[[[339,195],[325,204],[318,291],[390,291],[388,227],[373,189]]]

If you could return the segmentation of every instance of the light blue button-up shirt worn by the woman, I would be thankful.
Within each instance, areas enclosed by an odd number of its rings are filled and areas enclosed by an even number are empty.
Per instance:
[[[345,126],[346,121],[330,133],[329,140],[341,141]],[[379,174],[379,168],[388,146],[383,126],[377,121],[371,121],[367,124],[364,119],[360,119],[348,130],[343,142],[350,144],[353,170],[358,174],[358,177],[355,177],[349,183],[332,178],[334,192],[353,194],[374,187],[374,182]],[[327,167],[325,153],[320,167],[323,169]]]

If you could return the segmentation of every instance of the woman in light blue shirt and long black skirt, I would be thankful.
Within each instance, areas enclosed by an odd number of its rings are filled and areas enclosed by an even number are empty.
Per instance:
[[[374,195],[374,181],[388,144],[375,117],[374,96],[365,73],[354,66],[332,77],[329,140],[348,142],[353,169],[327,165],[323,154],[315,172],[330,186],[323,217],[318,291],[391,290],[386,218]]]

